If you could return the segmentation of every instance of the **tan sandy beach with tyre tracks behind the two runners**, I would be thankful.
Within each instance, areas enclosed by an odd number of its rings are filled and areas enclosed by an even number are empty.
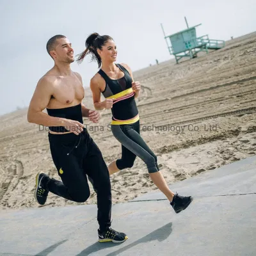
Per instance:
[[[255,156],[256,32],[179,65],[170,60],[138,70],[134,79],[142,86],[136,99],[141,136],[156,153],[169,185]],[[93,108],[89,88],[83,103]],[[109,164],[121,156],[121,145],[109,128],[111,111],[100,114],[99,124],[84,118],[84,126]],[[29,124],[26,115],[27,109],[20,109],[0,116],[0,210],[79,205],[52,193],[44,206],[36,203],[36,173],[60,177],[47,129]],[[111,186],[113,204],[157,189],[138,157],[132,168],[111,175]],[[90,188],[91,196],[83,204],[97,203],[91,184]]]

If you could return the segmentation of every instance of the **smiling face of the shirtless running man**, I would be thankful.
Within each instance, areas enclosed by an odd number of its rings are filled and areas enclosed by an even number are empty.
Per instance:
[[[52,51],[54,60],[66,63],[74,62],[74,50],[68,38],[59,38],[56,40],[55,44],[56,47]]]

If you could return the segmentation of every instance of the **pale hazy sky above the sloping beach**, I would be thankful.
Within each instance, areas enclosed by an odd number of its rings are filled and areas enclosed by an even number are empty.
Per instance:
[[[254,2],[254,3],[253,3]],[[196,35],[230,40],[256,31],[254,0],[0,0],[0,115],[29,106],[36,84],[54,65],[47,54],[47,40],[67,36],[74,54],[84,50],[90,33],[109,35],[118,49],[117,63],[133,71],[173,58],[166,35],[196,28]],[[83,86],[98,71],[97,63],[86,57],[71,64]]]

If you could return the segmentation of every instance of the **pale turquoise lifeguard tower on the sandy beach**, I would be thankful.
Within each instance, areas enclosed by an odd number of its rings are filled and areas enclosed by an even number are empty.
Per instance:
[[[202,24],[189,28],[186,17],[185,21],[188,28],[170,36],[165,35],[163,24],[161,24],[168,50],[171,55],[175,56],[176,63],[179,63],[179,60],[184,57],[196,58],[197,52],[205,51],[208,53],[208,50],[218,50],[225,47],[223,40],[209,39],[208,35],[196,37],[196,27]]]

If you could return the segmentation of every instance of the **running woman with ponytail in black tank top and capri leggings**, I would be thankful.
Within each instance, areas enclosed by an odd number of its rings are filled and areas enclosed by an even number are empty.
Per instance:
[[[115,64],[117,51],[111,36],[92,33],[85,42],[86,49],[77,57],[81,63],[88,54],[99,65],[99,72],[92,77],[90,88],[95,109],[111,109],[111,131],[122,144],[122,157],[109,164],[109,175],[131,168],[136,156],[140,157],[148,168],[150,178],[170,201],[174,211],[179,213],[192,202],[192,196],[174,194],[157,165],[157,157],[140,136],[140,116],[135,98],[140,93],[140,83],[134,82],[131,68],[126,64]],[[104,101],[100,101],[100,93]]]

